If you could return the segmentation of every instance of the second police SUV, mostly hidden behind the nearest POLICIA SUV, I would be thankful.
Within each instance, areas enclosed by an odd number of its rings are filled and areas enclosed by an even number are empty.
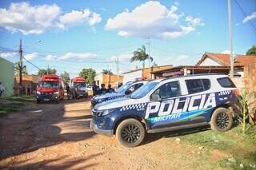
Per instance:
[[[147,81],[129,81],[125,85],[122,85],[113,93],[104,93],[101,95],[96,95],[91,99],[91,107],[102,103],[103,101],[110,101],[117,98],[122,98],[134,93],[137,89],[139,89],[142,85],[145,85]]]

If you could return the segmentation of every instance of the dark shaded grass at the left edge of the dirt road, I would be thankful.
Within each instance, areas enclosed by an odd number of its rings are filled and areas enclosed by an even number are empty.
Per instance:
[[[12,113],[18,111],[24,107],[25,104],[22,102],[3,102],[0,103],[0,116],[6,115],[7,113]]]

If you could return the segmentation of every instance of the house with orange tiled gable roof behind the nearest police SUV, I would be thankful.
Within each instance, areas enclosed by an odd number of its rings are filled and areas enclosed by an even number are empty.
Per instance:
[[[245,78],[253,80],[255,78],[254,65],[256,65],[256,56],[254,55],[236,55],[234,59],[234,83],[238,88],[246,87]],[[253,71],[248,71],[248,70]],[[174,75],[186,75],[197,73],[230,73],[230,54],[223,53],[204,53],[196,65],[180,65],[170,69],[152,72],[154,77],[172,77]],[[250,75],[248,74],[250,73]],[[248,79],[248,78],[247,78]],[[252,83],[254,84],[254,83]]]

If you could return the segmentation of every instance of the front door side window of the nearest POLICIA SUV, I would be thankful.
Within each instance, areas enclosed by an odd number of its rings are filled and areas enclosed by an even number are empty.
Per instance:
[[[170,97],[178,97],[181,95],[181,89],[178,81],[172,81],[159,87],[155,94],[158,94],[161,99]]]

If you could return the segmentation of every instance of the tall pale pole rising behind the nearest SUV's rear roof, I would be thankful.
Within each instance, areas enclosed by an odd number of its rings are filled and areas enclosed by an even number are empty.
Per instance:
[[[231,18],[231,0],[228,0],[229,30],[230,30],[230,77],[234,77],[234,57],[233,57],[233,35]]]

